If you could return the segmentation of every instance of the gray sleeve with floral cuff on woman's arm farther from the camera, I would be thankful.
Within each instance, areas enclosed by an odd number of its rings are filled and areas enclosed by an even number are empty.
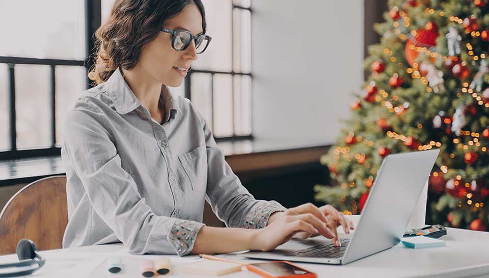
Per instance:
[[[256,200],[234,174],[224,155],[217,147],[205,119],[201,118],[207,150],[207,198],[212,211],[226,226],[261,229],[269,216],[285,211],[277,201]]]

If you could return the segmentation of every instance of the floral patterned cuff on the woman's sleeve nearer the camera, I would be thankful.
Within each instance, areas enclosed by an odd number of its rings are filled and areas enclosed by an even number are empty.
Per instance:
[[[175,248],[178,256],[188,255],[194,248],[194,243],[200,228],[205,226],[204,223],[177,219],[172,226],[168,241]]]

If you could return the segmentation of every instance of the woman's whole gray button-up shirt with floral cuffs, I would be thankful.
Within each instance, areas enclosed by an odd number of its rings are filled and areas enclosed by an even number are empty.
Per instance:
[[[63,119],[69,222],[63,247],[123,242],[132,254],[188,254],[204,201],[227,226],[263,228],[275,201],[255,200],[202,115],[166,86],[158,123],[117,69]]]

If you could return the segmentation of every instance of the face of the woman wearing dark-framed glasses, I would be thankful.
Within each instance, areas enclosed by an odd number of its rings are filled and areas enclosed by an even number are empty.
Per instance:
[[[203,33],[202,15],[197,6],[187,5],[179,14],[168,19],[162,27],[186,30],[194,36],[200,35]],[[187,75],[192,61],[195,60],[197,60],[197,53],[194,41],[187,49],[177,51],[172,47],[172,34],[159,32],[153,41],[143,46],[138,64],[152,74],[158,82],[170,87],[178,87]]]

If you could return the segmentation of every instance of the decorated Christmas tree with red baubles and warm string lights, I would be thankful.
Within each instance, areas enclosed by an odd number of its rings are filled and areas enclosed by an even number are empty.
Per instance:
[[[390,0],[370,75],[329,153],[316,199],[359,214],[382,159],[440,148],[427,223],[486,231],[489,204],[489,3]]]

